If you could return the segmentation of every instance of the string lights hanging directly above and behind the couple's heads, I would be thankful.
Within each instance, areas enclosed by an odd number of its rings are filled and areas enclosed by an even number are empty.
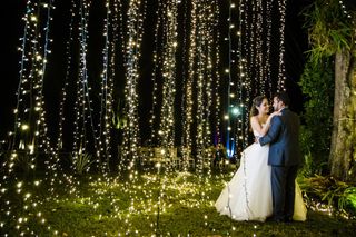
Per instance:
[[[273,19],[273,11],[279,10],[280,18]],[[274,0],[264,2],[260,0],[241,1],[238,10],[238,62],[236,78],[236,95],[238,105],[236,111],[238,118],[235,124],[235,142],[237,149],[245,148],[249,141],[249,115],[248,108],[251,98],[258,95],[271,97],[274,91],[280,88],[285,90],[285,63],[284,63],[284,30],[285,30],[285,1]],[[273,30],[278,33],[273,34]],[[279,48],[271,49],[271,41],[279,42]],[[278,82],[274,82],[270,58],[278,56]],[[276,89],[274,89],[274,87]],[[239,148],[238,148],[239,147]]]

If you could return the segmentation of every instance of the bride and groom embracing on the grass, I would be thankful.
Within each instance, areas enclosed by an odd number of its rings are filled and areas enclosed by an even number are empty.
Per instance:
[[[256,97],[253,103],[256,142],[243,151],[240,167],[215,206],[236,220],[304,221],[306,207],[296,184],[301,165],[299,118],[288,109],[285,92],[274,97],[271,115],[266,97]]]

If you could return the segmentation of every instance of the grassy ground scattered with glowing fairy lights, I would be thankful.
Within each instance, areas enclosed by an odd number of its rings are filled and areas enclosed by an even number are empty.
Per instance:
[[[224,175],[221,175],[224,174]],[[234,221],[214,203],[231,170],[27,178],[2,189],[3,236],[353,236],[356,220],[308,206],[305,223]],[[4,189],[7,189],[4,191]],[[263,198],[263,197],[261,197]]]

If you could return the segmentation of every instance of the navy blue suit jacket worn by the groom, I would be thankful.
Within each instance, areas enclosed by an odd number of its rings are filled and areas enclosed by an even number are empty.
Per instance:
[[[299,117],[288,108],[270,121],[268,132],[259,138],[261,146],[269,144],[268,165],[295,166],[301,164],[299,148]]]

